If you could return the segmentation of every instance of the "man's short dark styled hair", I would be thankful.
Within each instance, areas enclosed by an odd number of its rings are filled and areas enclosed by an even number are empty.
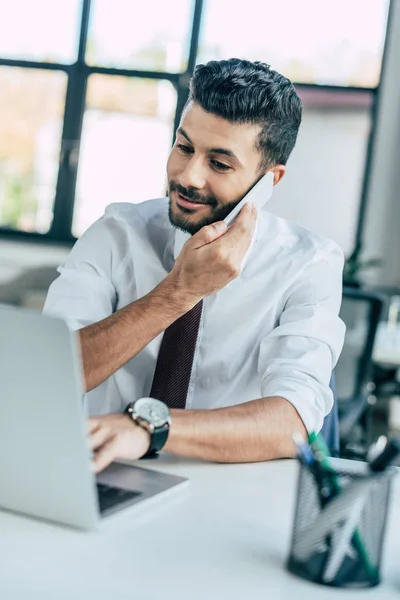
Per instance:
[[[231,123],[261,125],[260,170],[285,165],[296,143],[302,103],[289,79],[262,62],[239,58],[197,65],[189,100]]]

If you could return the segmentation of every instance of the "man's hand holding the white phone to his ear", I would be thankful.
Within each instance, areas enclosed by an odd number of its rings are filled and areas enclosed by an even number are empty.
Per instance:
[[[256,218],[254,205],[246,204],[229,231],[224,221],[218,221],[202,227],[186,242],[167,280],[175,284],[190,305],[238,277]]]

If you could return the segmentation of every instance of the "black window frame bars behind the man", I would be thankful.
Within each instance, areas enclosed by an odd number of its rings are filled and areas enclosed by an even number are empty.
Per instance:
[[[177,92],[177,104],[174,118],[174,128],[171,136],[171,144],[175,131],[179,124],[182,109],[188,98],[188,82],[196,65],[199,45],[204,0],[192,0],[192,24],[190,35],[190,46],[187,68],[184,72],[159,72],[144,71],[137,69],[107,68],[97,65],[88,65],[85,62],[86,44],[88,39],[89,19],[92,0],[82,0],[82,11],[80,18],[80,33],[77,60],[73,64],[40,62],[30,60],[14,60],[0,58],[0,66],[22,67],[26,69],[45,69],[63,71],[68,77],[67,92],[65,98],[64,122],[61,136],[60,162],[58,169],[56,193],[53,205],[53,220],[47,233],[21,231],[0,226],[0,239],[11,239],[14,241],[24,240],[32,242],[50,243],[58,245],[72,245],[76,237],[72,235],[72,221],[75,204],[76,180],[79,164],[79,149],[82,136],[83,116],[86,103],[86,89],[89,77],[92,74],[119,75],[125,77],[137,77],[146,79],[158,79],[170,81]],[[387,46],[387,33],[390,26],[392,13],[392,2],[389,2],[389,12],[386,26],[385,47],[382,57],[381,74],[385,63]],[[359,205],[358,223],[355,235],[355,246],[362,243],[362,230],[366,212],[366,197],[369,181],[371,154],[373,139],[376,129],[376,118],[379,99],[379,84],[375,88],[345,87],[319,84],[295,83],[296,88],[302,90],[315,90],[318,92],[329,92],[334,98],[335,93],[357,93],[360,97],[372,95],[371,129],[367,143],[367,153],[364,165],[364,178]]]

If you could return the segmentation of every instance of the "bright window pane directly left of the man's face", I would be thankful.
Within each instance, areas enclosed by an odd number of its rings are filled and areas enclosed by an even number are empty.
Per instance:
[[[88,82],[73,234],[112,202],[165,195],[176,92],[168,81],[92,75]]]

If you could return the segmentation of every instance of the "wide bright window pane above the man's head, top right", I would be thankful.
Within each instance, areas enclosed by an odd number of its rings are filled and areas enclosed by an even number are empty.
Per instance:
[[[231,0],[205,1],[198,63],[241,57],[266,62],[299,83],[378,85],[388,0],[245,4],[246,10],[232,10]]]

